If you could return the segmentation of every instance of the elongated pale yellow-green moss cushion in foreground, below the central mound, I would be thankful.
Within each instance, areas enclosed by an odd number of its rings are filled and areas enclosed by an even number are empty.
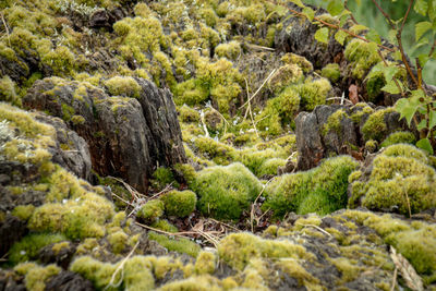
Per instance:
[[[312,259],[313,254],[288,240],[264,240],[251,233],[232,233],[218,245],[218,255],[231,267],[243,270],[255,258]]]

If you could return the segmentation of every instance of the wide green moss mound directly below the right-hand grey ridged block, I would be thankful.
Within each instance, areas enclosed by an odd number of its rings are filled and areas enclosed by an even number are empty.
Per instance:
[[[319,167],[306,172],[284,174],[266,189],[264,209],[276,216],[289,211],[326,215],[347,205],[348,177],[358,167],[349,156],[325,160]]]

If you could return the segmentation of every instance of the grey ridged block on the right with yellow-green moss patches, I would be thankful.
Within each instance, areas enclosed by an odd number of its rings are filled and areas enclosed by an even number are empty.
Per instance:
[[[365,143],[383,142],[390,133],[407,130],[392,109],[368,106],[317,106],[312,112],[301,112],[295,119],[298,170],[308,170],[324,158],[351,155],[363,159]]]

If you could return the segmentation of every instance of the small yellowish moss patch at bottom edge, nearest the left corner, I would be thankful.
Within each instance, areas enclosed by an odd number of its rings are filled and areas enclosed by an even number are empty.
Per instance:
[[[16,266],[16,268],[20,269],[21,267]],[[46,289],[46,282],[60,271],[61,268],[53,264],[45,267],[27,265],[24,278],[26,289],[29,291],[44,291]]]

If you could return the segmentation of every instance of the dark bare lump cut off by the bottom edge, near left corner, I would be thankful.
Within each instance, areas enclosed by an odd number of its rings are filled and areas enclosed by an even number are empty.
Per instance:
[[[46,291],[92,291],[94,286],[89,280],[72,271],[61,271],[46,283]]]

